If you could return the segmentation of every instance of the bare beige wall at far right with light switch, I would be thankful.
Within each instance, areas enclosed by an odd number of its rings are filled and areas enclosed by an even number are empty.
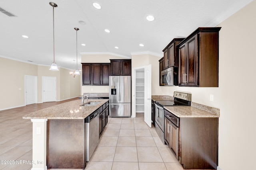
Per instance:
[[[256,1],[220,25],[219,166],[249,170],[256,153]],[[246,100],[245,100],[246,99]]]

